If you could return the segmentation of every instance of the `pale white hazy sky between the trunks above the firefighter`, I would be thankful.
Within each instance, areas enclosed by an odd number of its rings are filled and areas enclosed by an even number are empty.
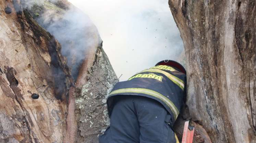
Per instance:
[[[94,22],[120,81],[164,59],[183,43],[168,0],[69,0]]]

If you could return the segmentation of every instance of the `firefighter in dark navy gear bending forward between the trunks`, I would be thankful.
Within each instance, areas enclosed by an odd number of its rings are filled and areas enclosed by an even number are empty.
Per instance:
[[[99,143],[177,143],[172,130],[186,98],[186,70],[164,60],[118,82],[107,98],[110,127]]]

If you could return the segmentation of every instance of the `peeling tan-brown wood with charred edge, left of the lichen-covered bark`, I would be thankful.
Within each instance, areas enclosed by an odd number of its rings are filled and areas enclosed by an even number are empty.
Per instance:
[[[60,44],[20,1],[0,1],[0,10],[0,142],[61,142],[70,71]]]

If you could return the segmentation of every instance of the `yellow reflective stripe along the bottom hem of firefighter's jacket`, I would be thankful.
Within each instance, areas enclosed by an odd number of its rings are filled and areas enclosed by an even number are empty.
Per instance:
[[[171,100],[169,100],[167,97],[165,97],[164,95],[153,91],[153,90],[149,90],[149,89],[143,89],[143,88],[126,88],[126,89],[118,89],[118,90],[114,90],[112,91],[110,95],[113,94],[120,94],[120,93],[143,93],[143,94],[147,94],[147,95],[151,95],[154,96],[160,100],[162,100],[172,111],[174,118],[176,120],[177,116],[179,115],[179,110],[176,108],[176,106],[173,104],[173,102]]]

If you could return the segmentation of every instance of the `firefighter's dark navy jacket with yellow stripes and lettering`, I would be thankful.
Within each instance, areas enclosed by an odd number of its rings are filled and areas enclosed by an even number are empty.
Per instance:
[[[145,69],[118,82],[110,92],[107,105],[111,115],[114,96],[138,95],[153,98],[172,115],[172,122],[178,117],[185,98],[186,75],[166,65]]]

